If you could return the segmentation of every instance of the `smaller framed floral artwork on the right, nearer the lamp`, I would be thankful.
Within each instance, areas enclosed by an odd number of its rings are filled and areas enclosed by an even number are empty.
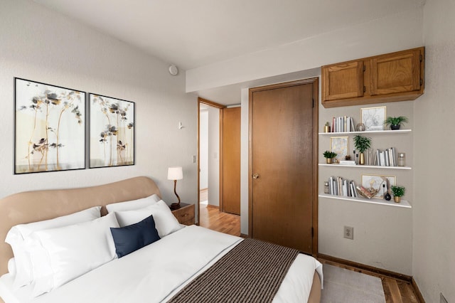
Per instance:
[[[89,94],[90,169],[134,165],[134,102]]]

